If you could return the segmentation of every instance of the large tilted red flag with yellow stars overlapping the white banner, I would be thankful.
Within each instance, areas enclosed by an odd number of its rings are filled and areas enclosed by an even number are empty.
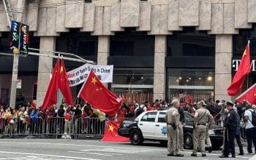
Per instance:
[[[121,107],[121,100],[99,81],[93,71],[90,72],[87,81],[84,82],[78,97],[83,98],[94,108],[98,108],[110,117],[116,116]]]

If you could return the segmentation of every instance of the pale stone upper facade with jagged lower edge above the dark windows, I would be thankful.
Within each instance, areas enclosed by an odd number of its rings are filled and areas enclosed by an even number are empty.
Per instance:
[[[11,5],[15,17],[13,0]],[[209,34],[237,34],[240,28],[252,28],[255,12],[255,0],[41,0],[27,2],[23,23],[35,36],[59,36],[69,28],[104,36],[127,27],[167,35],[187,26]],[[8,31],[5,13],[0,17],[0,32]]]

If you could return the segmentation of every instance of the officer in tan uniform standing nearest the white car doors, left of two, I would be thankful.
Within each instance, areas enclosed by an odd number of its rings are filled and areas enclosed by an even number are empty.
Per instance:
[[[180,116],[178,114],[178,100],[175,99],[172,101],[172,105],[166,113],[165,121],[167,121],[167,156],[184,156],[181,153],[178,153],[179,145],[179,129],[178,125],[181,124],[179,121]]]

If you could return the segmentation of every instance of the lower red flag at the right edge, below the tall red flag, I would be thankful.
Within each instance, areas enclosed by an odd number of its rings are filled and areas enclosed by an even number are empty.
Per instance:
[[[252,105],[256,105],[256,83],[244,91],[241,95],[236,97],[236,100],[239,103],[243,103],[244,100],[247,100]]]

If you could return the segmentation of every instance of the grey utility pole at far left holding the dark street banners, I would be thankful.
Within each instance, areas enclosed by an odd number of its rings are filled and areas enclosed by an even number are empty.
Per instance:
[[[4,1],[4,7],[5,11],[7,12],[7,20],[10,25],[11,29],[11,20],[13,20],[12,10],[10,8],[10,1],[3,0]],[[18,6],[17,6],[17,21],[21,22],[23,17],[23,9],[25,7],[26,0],[18,0]],[[14,54],[13,55],[13,65],[12,65],[12,87],[11,87],[11,95],[10,95],[10,106],[12,108],[15,108],[16,103],[16,92],[17,92],[17,79],[18,79],[18,63],[19,63],[19,55]]]

